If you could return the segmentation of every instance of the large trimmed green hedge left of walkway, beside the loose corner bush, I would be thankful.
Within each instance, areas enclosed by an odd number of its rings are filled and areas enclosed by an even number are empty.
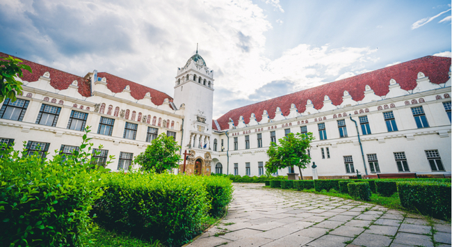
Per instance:
[[[209,210],[207,180],[200,176],[129,172],[103,179],[108,189],[95,213],[106,228],[181,245],[199,233]]]

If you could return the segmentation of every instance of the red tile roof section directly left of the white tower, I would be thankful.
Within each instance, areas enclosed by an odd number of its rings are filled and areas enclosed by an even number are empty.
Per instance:
[[[143,99],[146,93],[149,92],[151,93],[152,103],[156,104],[157,106],[163,104],[163,100],[165,100],[166,98],[168,98],[170,102],[172,102],[172,97],[170,97],[170,95],[160,92],[159,90],[148,88],[147,86],[135,83],[134,81],[122,79],[121,77],[117,77],[106,72],[97,73],[97,77],[105,77],[107,83],[106,87],[113,93],[121,93],[122,90],[124,90],[124,88],[129,85],[131,90],[130,95],[132,95],[132,97],[134,97],[135,99]]]

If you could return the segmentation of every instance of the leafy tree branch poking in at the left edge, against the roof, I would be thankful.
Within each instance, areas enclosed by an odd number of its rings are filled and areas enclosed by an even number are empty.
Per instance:
[[[0,102],[3,102],[5,97],[15,102],[16,93],[22,93],[22,82],[17,81],[15,77],[24,75],[22,69],[31,73],[31,67],[19,63],[22,63],[22,61],[12,56],[8,58],[0,57]]]

